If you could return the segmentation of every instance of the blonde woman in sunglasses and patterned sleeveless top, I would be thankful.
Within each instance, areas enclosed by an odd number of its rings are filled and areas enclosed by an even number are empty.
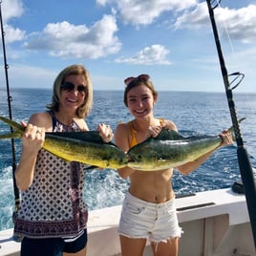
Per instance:
[[[30,117],[15,171],[22,193],[14,233],[23,236],[21,256],[86,255],[88,211],[83,201],[84,165],[66,162],[42,149],[45,132],[88,131],[85,118],[93,104],[88,71],[72,65],[57,75],[48,110]],[[24,124],[25,125],[25,124]],[[106,124],[101,138],[113,138]]]

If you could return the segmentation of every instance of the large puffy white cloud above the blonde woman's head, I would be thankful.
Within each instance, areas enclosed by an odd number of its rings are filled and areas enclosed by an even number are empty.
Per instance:
[[[32,33],[25,47],[47,50],[53,56],[96,59],[120,50],[116,32],[117,21],[112,15],[104,15],[92,28],[63,21],[48,24],[43,32]]]

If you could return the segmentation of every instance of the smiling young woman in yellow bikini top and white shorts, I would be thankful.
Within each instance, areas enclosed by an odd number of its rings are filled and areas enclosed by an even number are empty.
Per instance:
[[[124,104],[134,119],[117,125],[115,143],[123,152],[149,137],[158,136],[163,128],[178,131],[173,121],[154,117],[158,93],[149,78],[149,75],[139,75],[124,80]],[[233,143],[228,131],[220,137],[223,143],[218,148]],[[213,152],[177,169],[184,175],[188,174]],[[118,227],[122,256],[142,256],[147,240],[152,245],[154,256],[177,256],[181,227],[171,183],[173,169],[143,172],[124,167],[118,169],[118,173],[123,179],[130,179]]]

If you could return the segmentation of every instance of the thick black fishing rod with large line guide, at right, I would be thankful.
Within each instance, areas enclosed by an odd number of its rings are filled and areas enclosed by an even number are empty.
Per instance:
[[[252,229],[252,235],[254,239],[254,245],[256,248],[256,189],[255,189],[255,181],[253,177],[253,171],[251,167],[251,163],[248,158],[248,154],[246,152],[246,149],[244,147],[244,141],[241,136],[239,122],[237,119],[236,109],[235,109],[235,102],[233,100],[232,90],[237,87],[237,85],[230,87],[230,85],[233,83],[229,83],[228,75],[225,64],[224,64],[224,56],[222,52],[222,47],[219,39],[219,34],[217,30],[217,26],[214,19],[214,9],[219,6],[221,3],[221,0],[206,0],[209,16],[211,20],[212,30],[215,38],[215,43],[217,47],[217,52],[219,55],[219,61],[221,65],[223,80],[224,80],[224,88],[225,88],[225,95],[228,102],[228,107],[230,111],[230,116],[232,119],[233,127],[234,127],[234,133],[235,138],[237,142],[237,157],[238,157],[238,163],[239,163],[239,169],[242,177],[242,181],[244,183],[244,190],[245,190],[245,199],[247,203],[247,209]],[[240,76],[240,73],[234,73],[231,75],[238,75]],[[244,75],[242,75],[244,77]],[[240,83],[240,82],[239,82]]]

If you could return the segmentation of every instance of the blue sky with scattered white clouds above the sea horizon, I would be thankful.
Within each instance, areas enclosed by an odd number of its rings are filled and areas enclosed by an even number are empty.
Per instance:
[[[1,0],[1,10],[11,88],[52,88],[78,63],[94,90],[148,74],[158,91],[224,92],[204,0]],[[228,74],[245,74],[235,92],[256,93],[256,0],[223,0],[214,16]]]

